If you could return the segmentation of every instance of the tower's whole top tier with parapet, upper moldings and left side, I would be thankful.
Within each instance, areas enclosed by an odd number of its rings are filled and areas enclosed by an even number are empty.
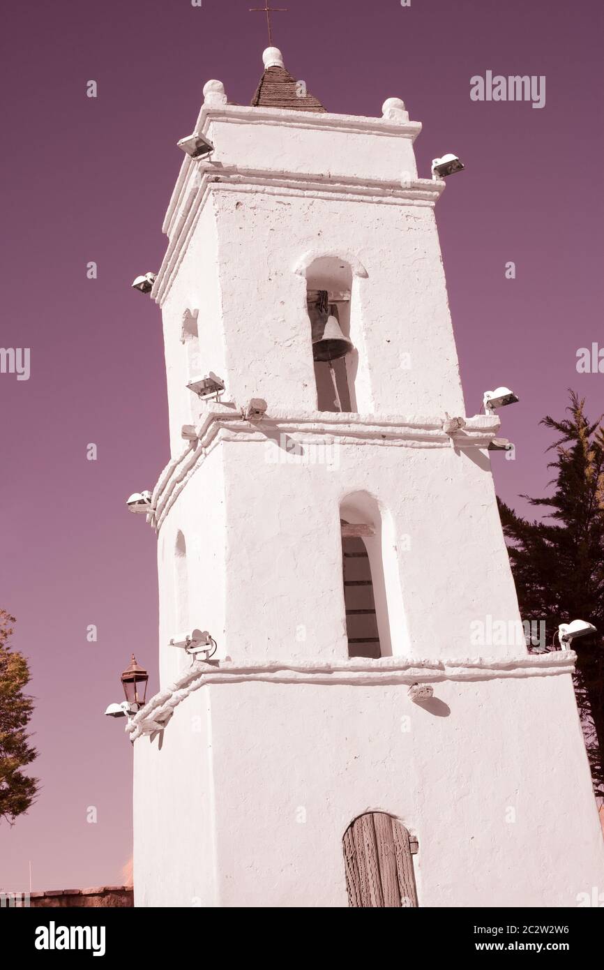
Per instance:
[[[154,288],[173,456],[197,406],[179,339],[186,308],[199,309],[202,370],[225,380],[225,401],[316,408],[306,274],[323,257],[354,274],[357,409],[463,413],[433,215],[443,183],[417,178],[420,126],[235,106],[205,110],[200,125],[215,150],[183,165]]]

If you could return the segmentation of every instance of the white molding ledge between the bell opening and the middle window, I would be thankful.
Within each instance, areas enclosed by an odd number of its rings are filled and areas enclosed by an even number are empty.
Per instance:
[[[212,404],[197,431],[197,441],[173,459],[159,476],[153,490],[153,513],[147,519],[157,532],[189,478],[221,441],[268,442],[283,435],[294,443],[370,444],[379,447],[449,448],[461,450],[486,448],[500,427],[495,415],[477,414],[467,418],[464,428],[448,435],[444,418],[400,417],[398,415],[351,414],[307,411],[300,414],[273,412],[259,422],[241,416],[235,405]],[[302,464],[302,463],[301,463]]]

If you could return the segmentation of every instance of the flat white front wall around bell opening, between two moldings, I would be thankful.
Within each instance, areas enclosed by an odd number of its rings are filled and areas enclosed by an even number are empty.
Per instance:
[[[276,408],[316,408],[306,280],[296,269],[305,254],[333,253],[366,270],[351,307],[366,373],[358,410],[464,412],[430,208],[345,197],[287,196],[275,205],[272,195],[226,191],[216,192],[216,211],[226,379],[236,401],[261,396]]]

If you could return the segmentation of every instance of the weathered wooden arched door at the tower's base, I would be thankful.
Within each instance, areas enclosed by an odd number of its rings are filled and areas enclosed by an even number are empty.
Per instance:
[[[346,829],[343,838],[348,905],[418,905],[409,833],[385,812],[369,812]]]

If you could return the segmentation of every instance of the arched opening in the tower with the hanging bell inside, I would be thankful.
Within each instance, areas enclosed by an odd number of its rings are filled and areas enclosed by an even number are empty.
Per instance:
[[[350,339],[352,292],[353,271],[346,261],[323,256],[306,269],[306,307],[320,411],[357,410],[359,354]]]

